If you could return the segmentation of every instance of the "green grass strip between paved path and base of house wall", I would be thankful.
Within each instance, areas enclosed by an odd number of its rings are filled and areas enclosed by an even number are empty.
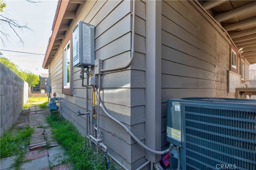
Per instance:
[[[104,153],[96,153],[95,148],[90,148],[88,139],[72,123],[66,121],[58,112],[53,112],[46,120],[52,126],[53,137],[66,149],[68,161],[74,169],[106,169]]]

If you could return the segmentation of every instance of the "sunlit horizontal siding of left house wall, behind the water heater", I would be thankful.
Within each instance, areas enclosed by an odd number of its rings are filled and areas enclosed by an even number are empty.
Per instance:
[[[145,138],[145,2],[136,1],[135,55],[134,62],[124,71],[104,73],[101,77],[101,98],[108,112],[124,123],[140,139]],[[95,59],[103,60],[103,69],[122,67],[130,61],[132,1],[86,1],[76,11],[76,20],[70,23],[70,29],[79,20],[95,26]],[[57,50],[50,63],[49,73],[52,93],[63,97],[61,114],[74,123],[82,135],[88,133],[86,116],[78,117],[76,112],[86,111],[86,88],[79,78],[80,68],[73,68],[72,95],[62,91],[63,48],[67,40]],[[72,50],[72,49],[71,49]],[[92,67],[92,74],[94,67]],[[137,78],[132,78],[137,77]],[[85,79],[84,82],[87,80]],[[92,91],[88,90],[88,110],[92,111]],[[96,100],[96,108],[97,108]],[[97,110],[97,109],[96,109]],[[100,110],[100,130],[108,152],[129,169],[135,169],[144,162],[144,149],[133,140],[118,124],[109,119]]]

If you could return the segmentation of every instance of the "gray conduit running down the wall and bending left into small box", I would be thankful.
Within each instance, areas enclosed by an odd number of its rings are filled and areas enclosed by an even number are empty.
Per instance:
[[[126,69],[127,67],[129,67],[131,65],[132,60],[134,58],[134,34],[135,34],[134,23],[135,23],[135,0],[133,0],[133,2],[132,2],[132,49],[131,49],[131,59],[130,59],[129,63],[127,65],[125,65],[124,67],[119,67],[119,68],[114,68],[114,69],[102,69],[102,70],[100,70],[100,72],[104,73],[104,72],[110,72],[110,71],[119,71],[119,70],[122,70],[122,69]]]

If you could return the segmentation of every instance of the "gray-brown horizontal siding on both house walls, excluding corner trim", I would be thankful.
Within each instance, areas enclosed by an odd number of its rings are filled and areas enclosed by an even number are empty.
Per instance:
[[[147,4],[136,0],[135,54],[130,67],[101,76],[100,96],[108,112],[124,123],[142,142],[146,142],[147,93]],[[228,93],[231,42],[215,25],[208,22],[188,1],[161,1],[161,147],[166,141],[166,100],[181,97],[233,97]],[[76,20],[95,26],[95,59],[103,60],[103,69],[122,67],[130,61],[132,1],[86,1],[76,11]],[[82,135],[88,133],[86,116],[86,89],[79,78],[80,68],[74,68],[72,95],[62,91],[62,41],[49,67],[52,93],[63,97],[62,115],[72,122]],[[247,67],[247,66],[246,66]],[[94,67],[92,67],[92,74]],[[87,80],[85,79],[84,82]],[[92,91],[88,90],[88,111],[92,111]],[[98,102],[96,101],[96,107]],[[128,169],[136,169],[146,162],[145,150],[100,109],[100,130],[108,152]],[[160,116],[160,115],[159,115]],[[91,122],[92,123],[92,122]],[[147,168],[147,167],[146,167]]]

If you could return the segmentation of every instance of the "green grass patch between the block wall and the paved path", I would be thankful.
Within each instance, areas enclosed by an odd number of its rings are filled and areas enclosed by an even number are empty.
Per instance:
[[[1,136],[1,159],[8,156],[16,155],[13,166],[19,169],[22,164],[22,159],[26,153],[26,149],[30,143],[30,136],[34,131],[33,128],[25,127],[17,130],[9,130]]]

